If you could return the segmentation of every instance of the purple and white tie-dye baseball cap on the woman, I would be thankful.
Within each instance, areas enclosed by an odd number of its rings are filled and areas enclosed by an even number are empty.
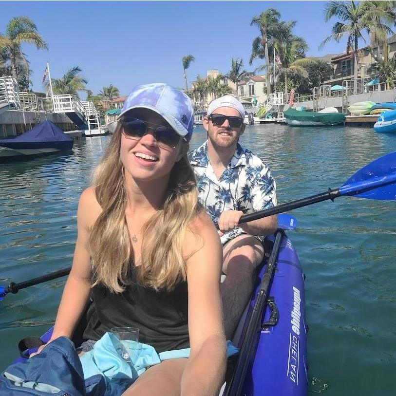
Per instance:
[[[190,98],[168,84],[138,85],[125,100],[118,118],[136,108],[145,108],[158,113],[187,141],[191,139],[194,109]]]

